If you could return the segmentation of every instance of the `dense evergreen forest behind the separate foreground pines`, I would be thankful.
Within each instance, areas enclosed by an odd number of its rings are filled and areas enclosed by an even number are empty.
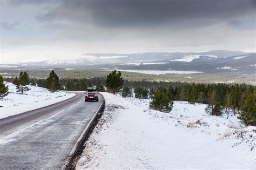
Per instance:
[[[46,79],[33,79],[37,86],[46,87]],[[62,90],[85,91],[87,86],[96,85],[104,89],[106,78],[90,79],[59,79]],[[158,87],[171,91],[173,100],[189,101],[214,106],[217,102],[225,108],[241,109],[246,104],[246,99],[251,93],[256,92],[256,87],[247,84],[196,84],[180,82],[157,81],[124,81],[124,86],[142,92],[146,89],[152,98]],[[65,89],[63,89],[65,87]],[[140,87],[138,89],[138,87]],[[254,94],[255,95],[255,94]],[[138,94],[142,96],[142,94]],[[146,95],[144,94],[144,97]]]

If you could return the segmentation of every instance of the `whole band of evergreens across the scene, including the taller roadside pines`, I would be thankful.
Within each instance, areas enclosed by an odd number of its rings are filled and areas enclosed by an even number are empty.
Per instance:
[[[134,94],[135,98],[151,98],[150,108],[163,112],[171,111],[173,100],[203,103],[208,105],[207,113],[221,115],[225,111],[228,115],[230,111],[240,111],[239,118],[245,124],[256,125],[256,87],[252,85],[127,81],[117,71],[112,71],[105,78],[59,79],[53,70],[47,79],[29,79],[28,73],[21,72],[13,83],[22,93],[28,90],[28,84],[46,87],[50,91],[85,91],[87,86],[96,85],[98,91],[120,92],[123,97],[132,97]],[[5,92],[2,90],[3,85],[0,82],[1,96],[6,94],[6,88]]]

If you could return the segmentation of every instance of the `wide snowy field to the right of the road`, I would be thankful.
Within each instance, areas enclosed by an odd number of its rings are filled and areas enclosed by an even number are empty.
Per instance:
[[[207,115],[206,105],[182,101],[162,113],[149,110],[149,100],[102,94],[105,112],[77,169],[255,168],[256,127],[237,116]]]

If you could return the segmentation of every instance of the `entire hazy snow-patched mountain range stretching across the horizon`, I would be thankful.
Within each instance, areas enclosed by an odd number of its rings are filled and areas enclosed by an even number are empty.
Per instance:
[[[214,50],[207,52],[145,52],[145,53],[84,53],[76,59],[55,59],[15,65],[0,69],[82,70],[177,70],[200,72],[255,73],[255,53]],[[63,69],[63,70],[70,70]]]

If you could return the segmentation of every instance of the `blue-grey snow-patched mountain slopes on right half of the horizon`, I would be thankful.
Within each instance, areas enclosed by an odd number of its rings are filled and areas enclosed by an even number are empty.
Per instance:
[[[188,55],[171,60],[158,62],[126,63],[120,64],[122,70],[178,70],[178,71],[201,71],[201,72],[232,72],[232,73],[255,73],[256,54],[246,54],[231,57],[217,57],[210,55]],[[155,64],[151,64],[155,63]],[[117,67],[117,66],[114,66]]]

